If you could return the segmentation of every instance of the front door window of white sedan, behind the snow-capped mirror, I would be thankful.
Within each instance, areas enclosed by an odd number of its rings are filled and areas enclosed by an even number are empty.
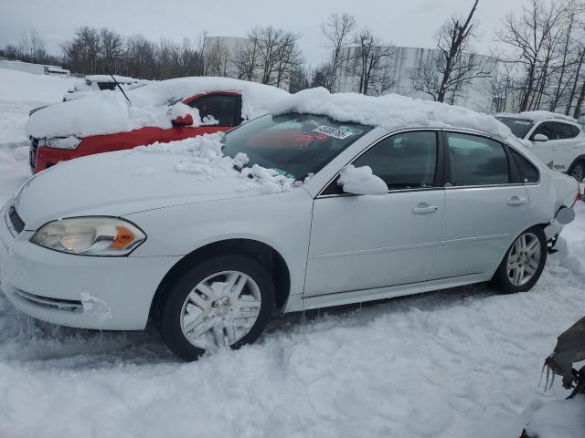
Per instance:
[[[393,135],[353,164],[371,167],[388,184],[388,190],[432,187],[437,167],[437,134],[425,130]]]

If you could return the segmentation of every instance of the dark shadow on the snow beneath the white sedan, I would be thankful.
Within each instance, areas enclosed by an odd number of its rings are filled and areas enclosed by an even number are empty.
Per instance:
[[[411,309],[433,311],[453,306],[470,306],[497,295],[485,285],[442,289],[424,294],[395,297],[361,304],[321,308],[282,314],[275,312],[266,336],[293,334],[314,326],[324,318],[335,318],[341,327],[367,324],[373,318]],[[0,297],[0,361],[26,362],[27,367],[51,365],[66,368],[109,368],[120,364],[181,363],[160,338],[151,321],[143,331],[100,331],[68,328],[27,317]],[[52,363],[48,363],[52,362]]]

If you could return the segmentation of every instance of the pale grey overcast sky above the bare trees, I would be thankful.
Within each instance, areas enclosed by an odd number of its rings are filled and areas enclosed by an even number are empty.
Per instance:
[[[510,11],[517,12],[527,0],[480,0],[479,51],[495,44],[495,27]],[[369,27],[383,41],[397,46],[433,47],[433,36],[452,13],[466,14],[472,0],[0,0],[0,47],[16,43],[31,27],[50,52],[73,35],[79,26],[110,27],[124,36],[142,34],[180,41],[197,39],[202,30],[209,36],[246,36],[254,26],[277,26],[302,34],[301,47],[307,62],[318,65],[324,57],[320,23],[331,12],[348,12],[359,27]]]

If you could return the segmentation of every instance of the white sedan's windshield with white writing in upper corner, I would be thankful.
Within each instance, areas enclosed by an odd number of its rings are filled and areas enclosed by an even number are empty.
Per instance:
[[[231,157],[243,152],[250,159],[249,166],[258,164],[303,180],[371,129],[325,116],[267,115],[229,131],[223,152]]]

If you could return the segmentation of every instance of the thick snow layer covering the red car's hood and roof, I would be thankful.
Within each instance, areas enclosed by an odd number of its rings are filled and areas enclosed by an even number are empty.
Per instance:
[[[84,99],[69,100],[38,110],[27,120],[27,136],[67,137],[125,132],[143,127],[171,128],[178,115],[189,113],[194,126],[203,124],[198,111],[181,103],[197,94],[236,91],[242,96],[242,118],[254,119],[289,93],[245,80],[231,78],[176,78],[127,91],[129,105],[118,89],[104,90]]]

